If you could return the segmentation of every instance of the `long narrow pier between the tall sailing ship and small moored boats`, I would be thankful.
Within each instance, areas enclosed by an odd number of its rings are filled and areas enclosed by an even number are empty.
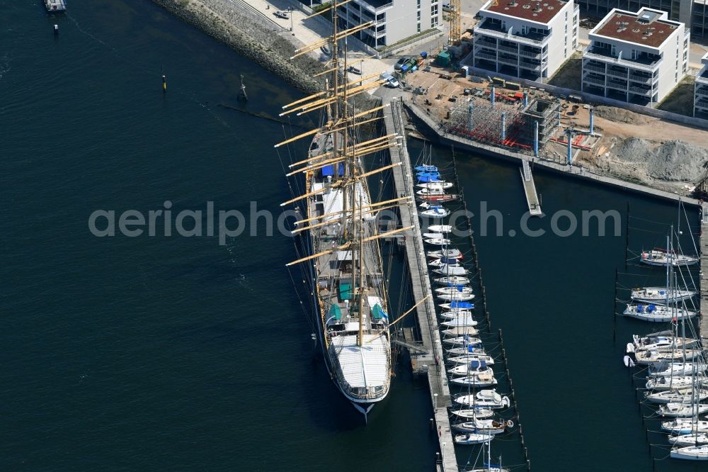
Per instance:
[[[401,146],[390,149],[391,163],[401,162],[400,166],[393,168],[394,184],[397,196],[413,196],[413,171],[411,159],[406,147],[406,136],[401,112],[401,102],[393,100],[391,106],[384,108],[384,123],[386,133],[399,133]],[[428,277],[426,254],[423,250],[423,237],[421,225],[418,221],[416,202],[411,199],[409,203],[399,206],[401,212],[401,226],[413,226],[413,230],[406,231],[404,237],[406,258],[411,272],[411,286],[413,298],[418,301],[433,293]],[[437,461],[438,471],[457,471],[457,458],[455,457],[455,443],[450,429],[450,416],[447,408],[452,406],[450,388],[447,385],[445,365],[442,358],[442,343],[438,330],[438,318],[435,315],[435,303],[430,296],[424,303],[416,308],[418,328],[421,339],[414,339],[413,332],[404,330],[404,343],[416,346],[409,348],[413,373],[428,376],[430,385],[430,403],[433,407],[435,429],[438,433],[440,444],[440,458]]]

